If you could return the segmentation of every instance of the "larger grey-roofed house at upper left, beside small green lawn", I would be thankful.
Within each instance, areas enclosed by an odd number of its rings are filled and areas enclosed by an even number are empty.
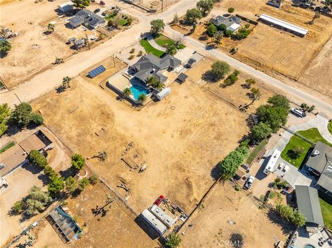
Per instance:
[[[102,26],[105,20],[99,15],[95,15],[95,13],[90,10],[80,10],[75,17],[68,19],[68,22],[73,28],[77,28],[83,24],[86,28],[95,29]]]

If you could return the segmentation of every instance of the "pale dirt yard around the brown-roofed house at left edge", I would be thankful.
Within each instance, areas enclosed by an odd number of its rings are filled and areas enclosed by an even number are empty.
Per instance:
[[[71,165],[71,160],[65,153],[65,147],[50,133],[46,128],[42,130],[48,135],[50,140],[53,140],[55,147],[53,150],[48,151],[48,165],[52,166],[55,171],[64,171]],[[24,138],[37,130],[26,130],[22,131],[11,137],[11,140],[20,142]],[[16,139],[18,136],[18,140]],[[7,213],[12,205],[24,198],[28,194],[28,189],[37,185],[47,189],[46,184],[48,182],[46,175],[37,168],[37,166],[30,166],[28,164],[17,169],[12,174],[6,177],[6,181],[10,185],[7,189],[1,189],[1,200],[0,200],[0,216],[1,216],[1,229],[0,229],[0,240],[3,245],[8,238],[13,237],[21,233],[23,227],[27,227],[31,223],[35,222],[41,215],[34,216],[28,220],[20,220],[21,216],[9,216]]]

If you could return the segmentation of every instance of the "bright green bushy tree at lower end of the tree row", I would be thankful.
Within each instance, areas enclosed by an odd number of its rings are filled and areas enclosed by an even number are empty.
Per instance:
[[[230,178],[235,175],[248,153],[248,146],[239,146],[219,162],[218,166],[220,166],[221,169],[221,178],[223,180],[230,180]]]

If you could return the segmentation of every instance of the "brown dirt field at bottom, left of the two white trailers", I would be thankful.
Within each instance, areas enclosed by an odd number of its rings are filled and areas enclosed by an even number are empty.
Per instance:
[[[92,209],[98,205],[105,204],[106,195],[111,195],[116,202],[111,208],[105,207],[106,216],[101,214],[95,216]],[[60,240],[57,233],[47,221],[44,221],[42,228],[33,230],[37,236],[34,247],[156,247],[157,242],[151,240],[147,233],[136,224],[136,215],[109,191],[104,184],[96,184],[87,187],[75,198],[68,198],[69,213],[77,218],[80,227],[83,228],[83,236],[80,240],[73,240],[66,245]],[[86,223],[86,225],[84,225]],[[85,227],[84,227],[85,226]]]

